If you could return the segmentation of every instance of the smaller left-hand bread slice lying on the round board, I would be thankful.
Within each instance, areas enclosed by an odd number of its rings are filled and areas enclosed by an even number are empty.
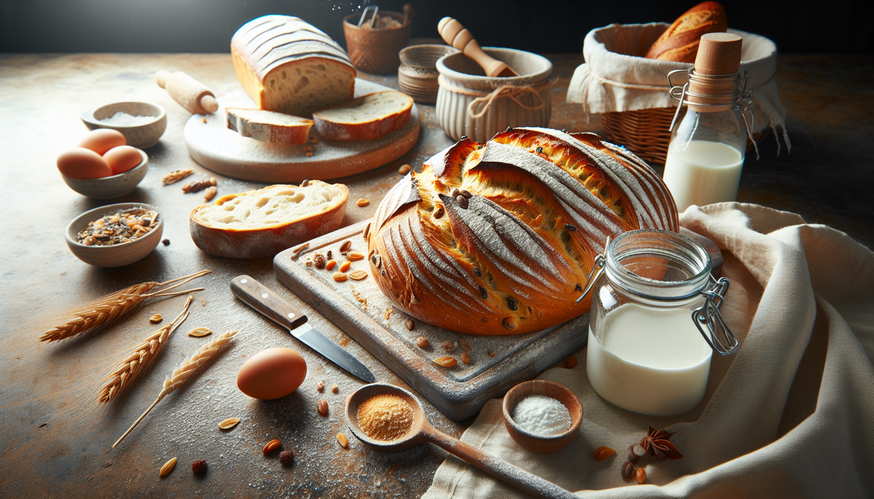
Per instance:
[[[312,120],[291,114],[228,107],[227,128],[260,142],[304,144],[309,140]]]

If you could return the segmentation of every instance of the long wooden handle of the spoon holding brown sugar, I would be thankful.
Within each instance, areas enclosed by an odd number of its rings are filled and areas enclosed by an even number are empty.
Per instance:
[[[555,483],[533,475],[522,468],[514,466],[503,459],[468,445],[461,440],[454,439],[446,433],[439,432],[433,427],[426,429],[428,440],[444,448],[447,452],[455,454],[464,461],[468,461],[476,468],[494,476],[498,480],[509,483],[517,489],[524,490],[531,496],[550,499],[577,499],[570,492]]]

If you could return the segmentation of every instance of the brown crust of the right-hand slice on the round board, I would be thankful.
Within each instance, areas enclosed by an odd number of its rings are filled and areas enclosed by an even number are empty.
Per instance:
[[[370,121],[350,122],[350,121],[334,121],[323,116],[323,111],[330,109],[339,109],[343,107],[356,107],[361,102],[372,98],[379,94],[392,94],[395,98],[402,100],[401,108],[398,111],[384,114],[379,118]],[[313,121],[316,121],[316,130],[327,139],[336,141],[369,141],[378,139],[379,137],[404,128],[407,121],[410,121],[410,113],[413,110],[413,98],[407,94],[395,92],[394,90],[384,90],[382,92],[374,92],[372,94],[362,95],[355,100],[343,102],[336,106],[320,109],[313,113]]]

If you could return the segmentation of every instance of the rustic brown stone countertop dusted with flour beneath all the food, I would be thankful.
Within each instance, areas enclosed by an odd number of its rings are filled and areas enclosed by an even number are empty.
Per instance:
[[[576,54],[548,56],[558,82],[553,88],[552,128],[600,131],[597,116],[586,120],[579,106],[565,103]],[[789,109],[791,154],[776,157],[765,142],[762,159],[747,156],[739,200],[796,211],[809,222],[848,232],[864,245],[874,244],[869,199],[874,185],[874,88],[868,81],[871,56],[780,56],[777,81]],[[0,350],[0,419],[5,473],[0,489],[9,496],[250,496],[343,497],[421,496],[446,453],[421,445],[398,453],[382,453],[351,438],[345,429],[345,396],[362,384],[308,347],[297,343],[272,322],[236,301],[228,282],[249,274],[310,316],[326,336],[360,358],[380,381],[411,389],[342,330],[276,281],[271,259],[232,260],[198,250],[188,232],[188,213],[201,204],[198,194],[184,194],[180,184],[163,186],[171,170],[192,168],[191,179],[216,177],[218,195],[246,191],[263,184],[213,174],[191,160],[183,127],[189,114],[157,87],[158,69],[182,70],[217,94],[237,87],[227,54],[67,54],[0,55],[0,206],[3,233],[10,236],[0,250],[3,272],[3,349]],[[361,75],[388,87],[394,77]],[[167,130],[147,149],[149,173],[133,192],[119,199],[96,201],[70,191],[55,168],[62,149],[79,142],[87,129],[79,114],[119,100],[147,100],[167,110]],[[399,180],[397,170],[410,163],[421,169],[429,156],[451,141],[436,124],[433,106],[419,105],[419,142],[399,160],[355,177],[339,179],[350,188],[344,223],[370,218],[385,192]],[[357,198],[370,198],[359,208]],[[165,216],[160,245],[131,266],[101,269],[77,260],[63,238],[66,224],[83,211],[114,202],[155,204]],[[89,337],[61,344],[38,344],[46,315],[142,281],[163,281],[210,269],[191,284],[206,288],[194,294],[191,316],[170,338],[156,364],[120,399],[94,406],[101,369],[121,351],[157,326],[149,316],[173,317],[184,297],[154,300],[135,308]],[[218,359],[190,384],[168,395],[119,447],[112,443],[155,399],[166,374],[207,341],[185,333],[198,326],[214,331],[239,329],[240,334]],[[265,348],[289,346],[306,359],[308,378],[298,391],[277,400],[249,399],[234,385],[239,365]],[[579,355],[579,353],[578,353]],[[316,383],[339,385],[339,393],[316,392]],[[329,401],[326,418],[316,414],[316,401]],[[455,437],[468,422],[447,419],[422,399],[435,427]],[[228,432],[222,419],[242,419]],[[350,448],[336,443],[336,433],[350,436]],[[278,456],[261,447],[277,438],[295,451],[295,463],[283,468]],[[166,478],[158,470],[170,457],[177,468]],[[191,473],[191,461],[205,459],[205,475]]]

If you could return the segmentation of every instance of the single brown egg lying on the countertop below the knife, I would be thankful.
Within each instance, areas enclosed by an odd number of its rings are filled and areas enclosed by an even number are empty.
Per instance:
[[[253,399],[279,399],[297,390],[306,377],[301,354],[277,347],[256,353],[239,368],[237,388]]]

